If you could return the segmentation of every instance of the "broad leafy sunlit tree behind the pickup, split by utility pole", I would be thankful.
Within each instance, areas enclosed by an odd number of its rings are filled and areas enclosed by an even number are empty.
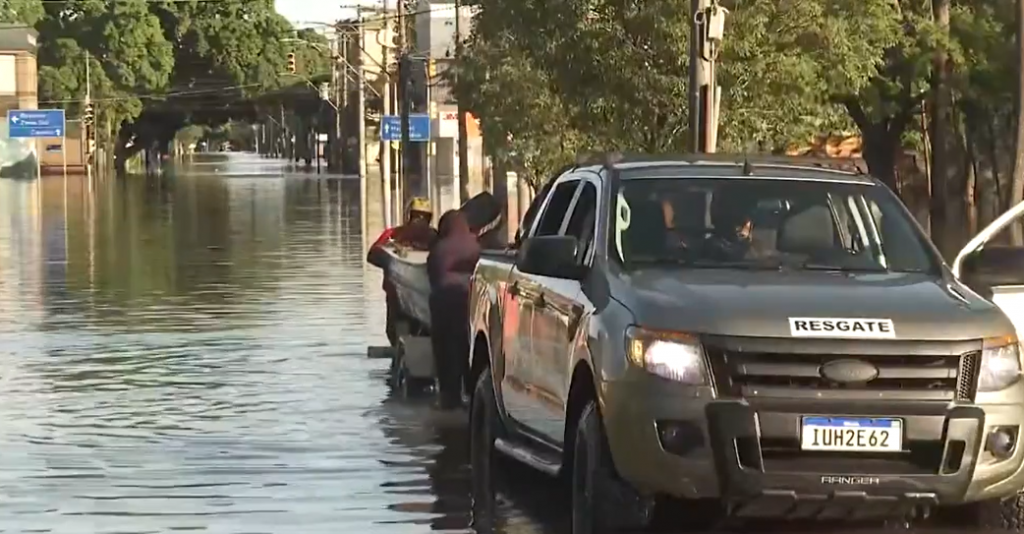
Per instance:
[[[726,2],[723,148],[780,150],[848,129],[837,95],[885,66],[902,26],[889,0]],[[481,0],[456,93],[484,131],[549,172],[567,153],[681,152],[690,14],[651,0]],[[535,113],[530,113],[534,112]],[[524,158],[526,159],[526,158]]]

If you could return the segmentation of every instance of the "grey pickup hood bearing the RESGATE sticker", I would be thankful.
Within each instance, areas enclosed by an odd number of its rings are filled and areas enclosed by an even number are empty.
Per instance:
[[[612,295],[637,324],[658,330],[760,337],[804,336],[791,320],[813,320],[814,337],[891,321],[897,339],[963,340],[1010,335],[1010,321],[959,283],[919,274],[845,274],[649,269],[624,275]],[[824,326],[821,321],[830,322]],[[842,322],[842,321],[841,321]],[[872,323],[872,324],[868,324]],[[854,326],[853,328],[857,328]],[[886,330],[886,327],[881,327]],[[821,330],[827,331],[822,333]],[[862,332],[861,332],[862,334]]]

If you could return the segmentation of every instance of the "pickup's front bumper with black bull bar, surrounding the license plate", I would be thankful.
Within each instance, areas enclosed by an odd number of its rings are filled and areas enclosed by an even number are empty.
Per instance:
[[[647,382],[642,384],[640,382]],[[1017,405],[717,400],[664,380],[608,385],[603,403],[618,473],[646,494],[726,500],[739,517],[871,518],[998,498],[1024,487],[1022,447],[985,451]],[[799,450],[803,415],[899,417],[906,454]]]

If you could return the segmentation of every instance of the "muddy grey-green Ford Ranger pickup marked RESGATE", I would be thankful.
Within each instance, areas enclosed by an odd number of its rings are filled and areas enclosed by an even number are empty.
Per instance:
[[[948,266],[835,162],[573,166],[473,275],[473,474],[568,481],[572,531],[724,518],[1024,522],[1024,251]],[[1013,320],[1013,321],[1012,321]],[[1014,321],[1018,321],[1015,326]]]

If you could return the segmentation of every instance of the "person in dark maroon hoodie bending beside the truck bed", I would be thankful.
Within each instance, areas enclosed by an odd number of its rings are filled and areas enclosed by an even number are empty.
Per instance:
[[[438,223],[438,239],[427,256],[430,278],[430,338],[441,408],[462,405],[462,382],[469,365],[469,278],[480,245],[466,215],[451,210]]]

